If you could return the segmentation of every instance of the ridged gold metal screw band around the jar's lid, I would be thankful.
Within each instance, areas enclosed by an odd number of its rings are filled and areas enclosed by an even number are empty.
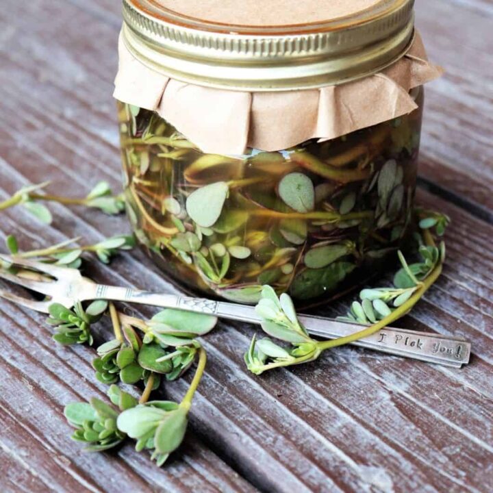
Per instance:
[[[301,90],[367,77],[412,45],[414,0],[382,0],[316,25],[238,27],[123,0],[123,40],[140,62],[180,81],[229,90]],[[273,34],[275,31],[275,34]]]

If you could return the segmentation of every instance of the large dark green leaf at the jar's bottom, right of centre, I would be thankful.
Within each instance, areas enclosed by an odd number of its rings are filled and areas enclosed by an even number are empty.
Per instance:
[[[290,294],[296,299],[309,299],[330,292],[355,268],[349,262],[334,262],[325,268],[307,268],[294,277]]]

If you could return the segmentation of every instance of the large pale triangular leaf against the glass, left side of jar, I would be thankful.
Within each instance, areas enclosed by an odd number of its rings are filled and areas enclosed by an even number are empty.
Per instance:
[[[186,201],[188,215],[201,227],[211,227],[218,220],[229,193],[224,181],[206,185],[192,192]]]

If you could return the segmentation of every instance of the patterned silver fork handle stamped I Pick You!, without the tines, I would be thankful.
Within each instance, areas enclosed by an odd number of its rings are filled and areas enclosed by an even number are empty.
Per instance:
[[[92,286],[96,292],[88,299],[110,299],[127,301],[164,308],[177,308],[187,312],[212,314],[218,318],[239,320],[260,325],[262,318],[249,305],[213,301],[204,298],[176,296],[175,294],[157,294],[153,292],[119,288],[116,286]],[[363,329],[362,325],[342,323],[330,318],[312,315],[299,315],[300,322],[312,336],[325,339],[336,339],[349,336]],[[424,362],[442,364],[460,368],[469,362],[470,343],[460,338],[442,336],[435,333],[410,331],[385,327],[379,332],[351,344],[383,353],[420,359]]]

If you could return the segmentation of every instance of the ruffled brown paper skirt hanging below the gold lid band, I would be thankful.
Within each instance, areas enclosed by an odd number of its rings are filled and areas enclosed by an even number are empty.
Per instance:
[[[399,61],[364,79],[285,92],[242,92],[170,79],[132,55],[122,37],[114,97],[157,112],[205,153],[289,149],[329,140],[416,109],[409,91],[442,75],[416,33]]]

